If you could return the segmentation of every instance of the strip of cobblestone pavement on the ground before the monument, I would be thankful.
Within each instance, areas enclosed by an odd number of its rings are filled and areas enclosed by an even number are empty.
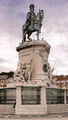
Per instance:
[[[0,120],[68,120],[68,113],[47,115],[0,115]]]

